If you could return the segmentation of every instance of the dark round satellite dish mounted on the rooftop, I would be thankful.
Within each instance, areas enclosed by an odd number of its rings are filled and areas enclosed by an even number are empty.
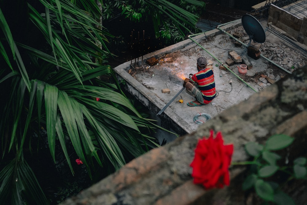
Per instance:
[[[248,46],[251,44],[251,40],[253,40],[255,43],[264,43],[266,40],[266,33],[260,22],[255,17],[250,14],[244,14],[241,21],[245,32],[250,38]]]

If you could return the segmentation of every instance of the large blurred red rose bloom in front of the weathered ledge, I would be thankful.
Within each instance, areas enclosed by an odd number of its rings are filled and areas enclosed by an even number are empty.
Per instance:
[[[228,167],[231,163],[233,145],[223,144],[222,134],[213,139],[213,130],[208,139],[198,140],[195,157],[190,166],[193,168],[193,182],[202,184],[206,189],[222,188],[229,185]]]

